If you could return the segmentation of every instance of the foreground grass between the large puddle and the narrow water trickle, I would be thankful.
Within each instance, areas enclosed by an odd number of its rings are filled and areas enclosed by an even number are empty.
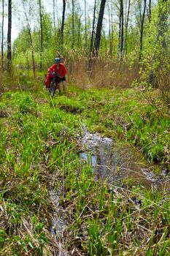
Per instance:
[[[142,192],[140,187],[127,190],[102,184],[86,168],[77,179],[74,173],[69,176],[61,203],[65,211],[69,206],[68,248],[76,244],[87,255],[147,255],[152,249],[169,255],[169,197]]]

